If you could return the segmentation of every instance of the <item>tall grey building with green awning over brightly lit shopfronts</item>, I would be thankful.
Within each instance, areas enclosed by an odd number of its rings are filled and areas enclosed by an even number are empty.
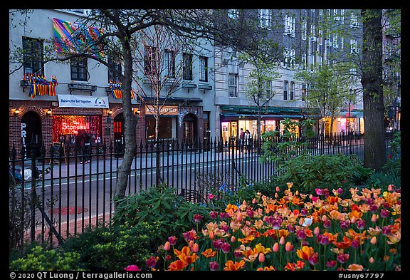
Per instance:
[[[343,53],[359,55],[361,31],[357,12],[344,9],[227,11],[231,21],[241,21],[241,18],[258,13],[258,27],[268,30],[273,41],[283,48],[283,55],[278,56],[278,78],[266,85],[266,92],[274,94],[274,97],[263,106],[262,133],[277,127],[283,131],[285,118],[318,120],[324,117],[319,113],[309,114],[306,110],[308,85],[296,80],[295,73],[314,71],[315,66],[329,63],[335,57],[343,59]],[[224,139],[235,137],[240,128],[248,129],[251,134],[256,135],[256,103],[246,95],[246,87],[254,67],[243,63],[232,48],[216,48],[215,69],[215,118],[220,123],[216,128],[216,135],[221,135]],[[357,87],[347,90],[361,93],[360,88],[360,83],[357,83]],[[346,100],[345,108],[340,108],[332,131],[363,133],[362,108],[360,94],[354,100]],[[325,117],[323,121],[326,124],[326,133],[330,133],[330,118]]]

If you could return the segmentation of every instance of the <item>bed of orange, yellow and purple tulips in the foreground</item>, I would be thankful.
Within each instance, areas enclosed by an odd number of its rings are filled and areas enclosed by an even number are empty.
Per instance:
[[[228,204],[212,222],[170,236],[147,261],[152,270],[400,270],[401,193],[351,188],[288,190]],[[283,193],[279,196],[278,193]],[[347,198],[342,198],[347,197]],[[211,198],[211,197],[209,197]],[[127,270],[139,270],[130,264]]]

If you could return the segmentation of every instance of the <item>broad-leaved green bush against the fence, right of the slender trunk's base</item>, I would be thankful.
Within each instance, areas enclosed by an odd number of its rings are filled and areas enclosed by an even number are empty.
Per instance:
[[[175,194],[174,189],[164,185],[151,187],[137,195],[117,199],[113,221],[115,224],[130,225],[146,222],[162,224],[156,232],[157,244],[163,244],[169,232],[182,234],[194,226],[194,214],[205,216],[208,209],[204,204],[186,202]]]

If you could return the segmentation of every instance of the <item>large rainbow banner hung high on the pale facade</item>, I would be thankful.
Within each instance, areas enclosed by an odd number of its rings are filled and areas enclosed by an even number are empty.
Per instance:
[[[95,45],[102,29],[56,18],[53,18],[53,26],[54,46],[58,53],[91,53],[98,58],[104,57],[102,46]]]

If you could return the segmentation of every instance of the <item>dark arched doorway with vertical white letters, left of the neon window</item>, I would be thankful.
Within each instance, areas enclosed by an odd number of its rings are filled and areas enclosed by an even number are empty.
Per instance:
[[[36,112],[28,111],[21,118],[21,140],[26,149],[26,157],[31,158],[31,144],[34,144],[36,157],[40,157],[41,142],[41,118]]]

